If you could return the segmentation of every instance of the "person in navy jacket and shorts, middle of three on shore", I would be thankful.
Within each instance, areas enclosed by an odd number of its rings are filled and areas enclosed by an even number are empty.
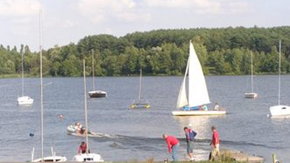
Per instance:
[[[189,129],[188,127],[184,127],[183,130],[185,132],[187,154],[190,157],[190,161],[194,161],[194,159],[193,159],[193,141],[194,141],[194,137],[197,135],[197,133],[195,131],[193,131],[192,129]]]

